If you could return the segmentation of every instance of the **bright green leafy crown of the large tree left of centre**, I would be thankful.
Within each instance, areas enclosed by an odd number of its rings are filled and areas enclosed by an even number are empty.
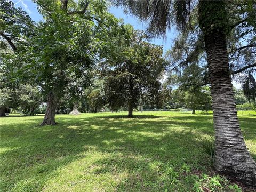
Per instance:
[[[69,10],[79,10],[84,6],[81,2],[70,1],[67,10],[63,9],[59,1],[37,1],[39,11],[44,15],[45,21],[38,27],[38,35],[31,43],[29,50],[33,63],[32,68],[40,72],[34,74],[37,84],[41,84],[43,90],[52,89],[61,95],[64,87],[70,85],[76,79],[84,79],[86,73],[97,61],[99,47],[98,29],[92,19],[93,14],[100,13],[97,7],[90,5],[85,13],[67,14]],[[102,8],[102,10],[106,10]],[[83,83],[86,84],[86,83]]]

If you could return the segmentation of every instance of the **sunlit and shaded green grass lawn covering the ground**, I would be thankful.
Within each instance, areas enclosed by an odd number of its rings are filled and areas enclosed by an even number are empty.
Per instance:
[[[126,115],[57,115],[55,126],[38,126],[43,115],[1,118],[0,191],[237,191],[198,139],[214,135],[212,115]],[[238,116],[256,159],[256,113]]]

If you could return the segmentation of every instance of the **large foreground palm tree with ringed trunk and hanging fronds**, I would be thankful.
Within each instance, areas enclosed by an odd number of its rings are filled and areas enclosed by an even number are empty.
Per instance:
[[[209,80],[212,93],[215,129],[214,168],[222,174],[256,186],[256,163],[246,148],[237,118],[226,45],[229,30],[226,1],[165,0],[126,1],[130,12],[149,23],[149,30],[164,35],[175,21],[179,30],[190,22],[191,12],[197,12],[199,27],[204,35]],[[193,8],[197,9],[193,9]]]

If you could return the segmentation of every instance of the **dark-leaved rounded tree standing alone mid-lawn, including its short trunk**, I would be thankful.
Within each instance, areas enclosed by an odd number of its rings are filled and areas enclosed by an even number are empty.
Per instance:
[[[163,49],[147,43],[146,36],[131,26],[125,26],[122,32],[125,38],[117,44],[121,48],[116,47],[119,54],[105,62],[105,95],[112,108],[126,106],[128,117],[132,117],[140,98],[157,98],[164,69]]]

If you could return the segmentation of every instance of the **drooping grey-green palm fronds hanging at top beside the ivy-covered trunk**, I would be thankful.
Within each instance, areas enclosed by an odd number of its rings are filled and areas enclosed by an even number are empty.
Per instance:
[[[114,5],[125,7],[131,13],[148,23],[148,30],[156,35],[166,35],[172,24],[185,31],[190,26],[190,14],[195,0],[113,0]]]

